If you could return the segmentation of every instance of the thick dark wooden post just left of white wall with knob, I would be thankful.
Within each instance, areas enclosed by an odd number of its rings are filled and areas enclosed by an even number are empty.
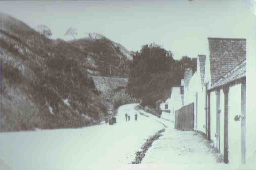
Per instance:
[[[224,163],[229,163],[228,150],[228,113],[229,113],[229,86],[223,87],[224,92]]]

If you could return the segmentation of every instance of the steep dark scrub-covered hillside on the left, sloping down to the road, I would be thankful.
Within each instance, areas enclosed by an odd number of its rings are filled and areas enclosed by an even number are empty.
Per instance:
[[[87,75],[88,53],[0,13],[1,131],[99,123],[107,108]]]

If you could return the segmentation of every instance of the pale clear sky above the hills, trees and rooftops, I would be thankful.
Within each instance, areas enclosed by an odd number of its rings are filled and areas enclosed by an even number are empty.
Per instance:
[[[255,56],[253,4],[253,0],[0,1],[0,11],[33,28],[47,25],[53,39],[73,39],[64,34],[75,27],[76,38],[98,32],[129,51],[155,42],[179,59],[207,55],[207,37],[246,38],[247,53]]]

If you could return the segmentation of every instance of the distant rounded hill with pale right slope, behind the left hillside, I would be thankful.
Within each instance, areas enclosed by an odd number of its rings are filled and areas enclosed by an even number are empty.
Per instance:
[[[106,37],[82,38],[69,41],[87,54],[86,69],[91,75],[128,77],[131,53]]]

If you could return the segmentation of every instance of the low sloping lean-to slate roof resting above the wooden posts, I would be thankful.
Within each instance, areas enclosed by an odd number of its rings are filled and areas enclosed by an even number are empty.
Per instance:
[[[235,66],[225,75],[223,75],[216,82],[213,82],[212,88],[216,88],[216,87],[231,83],[243,77],[246,77],[246,59],[244,59],[241,63],[239,63],[237,66]]]

